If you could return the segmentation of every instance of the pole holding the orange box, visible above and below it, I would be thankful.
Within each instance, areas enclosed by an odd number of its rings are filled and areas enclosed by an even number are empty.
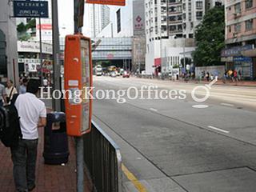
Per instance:
[[[74,34],[82,32],[78,27],[78,5],[79,0],[74,0]],[[84,151],[83,137],[76,137],[76,162],[77,162],[77,192],[84,192]]]

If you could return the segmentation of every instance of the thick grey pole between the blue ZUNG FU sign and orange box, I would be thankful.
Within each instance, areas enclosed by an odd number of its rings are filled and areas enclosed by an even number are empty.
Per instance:
[[[53,57],[54,57],[54,90],[60,90],[61,70],[59,65],[59,34],[58,34],[58,0],[52,0],[52,26],[53,26]],[[61,100],[53,98],[54,110],[61,110]]]

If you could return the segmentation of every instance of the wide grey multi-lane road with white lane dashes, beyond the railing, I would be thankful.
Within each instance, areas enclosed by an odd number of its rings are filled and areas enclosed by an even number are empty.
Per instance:
[[[255,191],[256,87],[214,85],[199,103],[191,97],[193,83],[94,77],[94,86],[95,97],[98,90],[145,86],[122,104],[94,100],[94,121],[120,146],[125,191]],[[185,90],[186,98],[142,99],[148,86]]]

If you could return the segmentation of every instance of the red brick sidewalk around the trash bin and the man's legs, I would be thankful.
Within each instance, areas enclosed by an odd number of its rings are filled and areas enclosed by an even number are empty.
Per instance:
[[[44,164],[43,152],[43,130],[39,130],[38,160],[36,170],[36,188],[33,192],[72,192],[76,191],[75,173],[75,150],[74,140],[69,138],[70,158],[65,166],[49,166]],[[10,158],[10,149],[0,142],[0,191],[14,192],[13,164]],[[86,178],[86,174],[85,174]],[[85,181],[88,184],[88,180]],[[89,192],[90,185],[85,186],[85,191]]]

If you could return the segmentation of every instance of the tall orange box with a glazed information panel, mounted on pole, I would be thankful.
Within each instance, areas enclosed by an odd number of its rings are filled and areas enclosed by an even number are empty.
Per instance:
[[[82,34],[67,35],[65,41],[66,131],[70,136],[90,132],[92,100],[86,90],[92,87],[90,38]]]

